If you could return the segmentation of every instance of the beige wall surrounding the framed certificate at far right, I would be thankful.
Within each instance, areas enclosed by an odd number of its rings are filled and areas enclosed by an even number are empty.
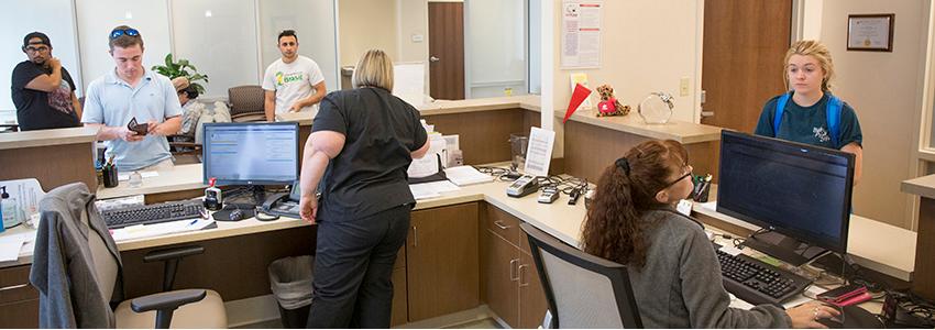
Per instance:
[[[833,91],[857,111],[864,131],[864,179],[855,187],[857,215],[913,228],[911,199],[900,183],[915,177],[915,138],[922,107],[928,1],[824,0],[822,41],[835,62]],[[848,14],[895,13],[893,52],[848,52]]]

